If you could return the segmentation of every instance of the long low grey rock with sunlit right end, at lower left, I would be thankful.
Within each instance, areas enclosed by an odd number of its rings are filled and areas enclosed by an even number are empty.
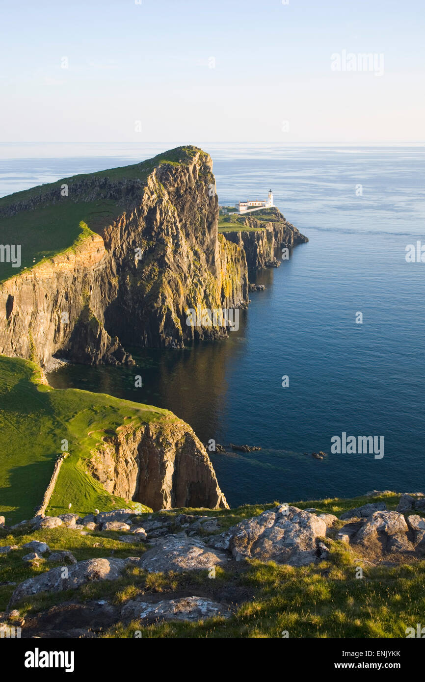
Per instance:
[[[88,559],[78,561],[68,568],[68,578],[63,578],[61,566],[51,568],[35,578],[29,578],[21,582],[14,590],[10,604],[14,605],[35,594],[42,592],[61,592],[63,590],[77,589],[81,585],[94,580],[117,580],[125,567],[123,559]]]

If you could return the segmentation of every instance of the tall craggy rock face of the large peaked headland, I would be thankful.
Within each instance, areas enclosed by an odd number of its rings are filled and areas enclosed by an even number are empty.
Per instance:
[[[60,201],[107,198],[116,202],[116,217],[102,218],[93,205],[96,220],[88,227],[96,233],[86,229],[74,248],[0,286],[0,353],[42,366],[55,353],[116,364],[131,361],[126,344],[180,348],[188,340],[227,336],[224,325],[188,325],[187,311],[246,306],[245,253],[218,235],[209,155],[186,147],[170,156],[176,160],[152,160],[148,169],[140,164],[135,179],[126,180],[126,168],[119,179],[116,169],[111,177],[107,171],[77,176],[66,198],[54,183],[3,201],[7,217]]]

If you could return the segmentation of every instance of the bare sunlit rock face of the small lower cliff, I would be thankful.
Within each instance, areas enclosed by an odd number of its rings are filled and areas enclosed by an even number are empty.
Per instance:
[[[104,436],[87,470],[108,492],[153,510],[228,507],[205,447],[175,417]]]

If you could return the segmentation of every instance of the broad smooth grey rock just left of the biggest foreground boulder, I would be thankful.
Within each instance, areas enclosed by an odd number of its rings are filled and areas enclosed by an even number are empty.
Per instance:
[[[184,537],[181,537],[184,535]],[[226,563],[227,557],[208,548],[201,539],[186,537],[186,533],[160,538],[153,548],[139,559],[138,565],[153,572],[194,571]]]

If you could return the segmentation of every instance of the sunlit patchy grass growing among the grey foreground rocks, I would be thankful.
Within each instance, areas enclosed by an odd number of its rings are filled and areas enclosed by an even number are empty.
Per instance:
[[[336,516],[366,502],[385,501],[388,509],[395,509],[400,495],[354,499],[327,499],[295,503],[298,507],[314,507]],[[221,530],[244,518],[261,514],[273,505],[244,505],[231,510],[202,510],[205,516],[218,518]],[[188,509],[159,512],[173,518]],[[143,523],[144,515],[141,516]],[[342,525],[343,522],[340,522]],[[78,531],[55,528],[36,531],[31,535],[0,530],[0,544],[22,546],[30,539],[42,539],[51,549],[71,550],[78,560],[91,557],[139,556],[140,545],[126,545],[117,540],[119,532],[101,534],[92,531],[81,536]],[[100,548],[93,548],[100,542]],[[238,562],[237,567],[216,568],[216,579],[210,580],[207,571],[183,574],[147,574],[129,568],[122,578],[113,582],[91,582],[77,591],[54,595],[38,595],[27,599],[21,614],[37,612],[66,599],[85,602],[88,599],[107,599],[123,604],[126,599],[160,593],[162,599],[175,595],[205,595],[220,601],[222,590],[239,590],[235,598],[235,614],[229,621],[216,618],[200,623],[167,623],[143,627],[134,622],[113,627],[109,637],[133,637],[140,630],[151,637],[281,637],[287,630],[289,637],[405,637],[406,627],[421,622],[425,607],[425,561],[402,566],[368,565],[357,550],[338,541],[326,539],[330,557],[320,564],[302,568],[278,566],[259,561]],[[19,549],[8,556],[0,555],[0,610],[6,608],[14,587],[1,582],[20,582],[46,570],[46,562],[27,565],[22,561],[27,550]],[[362,566],[364,577],[355,578],[356,567]],[[244,593],[246,595],[244,596]]]

